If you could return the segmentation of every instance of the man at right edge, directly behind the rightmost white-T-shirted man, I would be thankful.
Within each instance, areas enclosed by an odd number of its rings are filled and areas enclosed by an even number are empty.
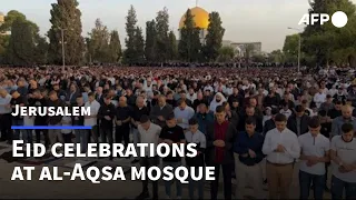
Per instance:
[[[356,118],[353,114],[353,108],[350,106],[344,106],[342,109],[343,116],[337,117],[333,120],[332,124],[332,136],[342,136],[342,127],[344,123],[350,123],[354,126],[354,130],[356,130]]]

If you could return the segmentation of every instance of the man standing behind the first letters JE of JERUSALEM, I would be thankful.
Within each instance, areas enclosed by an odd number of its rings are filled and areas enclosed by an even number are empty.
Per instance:
[[[12,90],[11,96],[12,96],[12,99],[10,101],[10,104],[12,108],[12,112],[14,112],[17,106],[23,107],[26,102],[24,102],[24,98],[17,90]],[[18,116],[12,116],[12,126],[23,126],[23,116],[21,116],[21,113],[19,113]],[[19,130],[19,129],[14,130],[14,134],[13,134],[12,139],[19,140],[20,132],[21,132],[21,130]],[[24,139],[24,136],[22,136],[22,139]]]

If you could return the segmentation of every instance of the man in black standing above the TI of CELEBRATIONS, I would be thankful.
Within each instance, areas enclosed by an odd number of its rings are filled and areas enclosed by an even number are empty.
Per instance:
[[[134,134],[134,143],[137,146],[139,141],[139,131],[138,126],[140,124],[140,119],[142,116],[149,116],[148,108],[145,107],[145,100],[141,96],[137,97],[136,99],[136,106],[132,108],[132,114],[131,114],[131,128],[132,128],[132,134]],[[136,149],[138,151],[138,148]],[[137,163],[139,161],[138,158],[135,158],[135,160],[131,163]]]

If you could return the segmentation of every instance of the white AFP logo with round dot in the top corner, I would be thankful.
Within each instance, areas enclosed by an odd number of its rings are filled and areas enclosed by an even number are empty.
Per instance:
[[[330,16],[327,13],[306,13],[299,20],[300,24],[324,24],[330,20]],[[346,26],[348,19],[345,12],[337,11],[332,16],[332,23],[336,28],[343,28]]]

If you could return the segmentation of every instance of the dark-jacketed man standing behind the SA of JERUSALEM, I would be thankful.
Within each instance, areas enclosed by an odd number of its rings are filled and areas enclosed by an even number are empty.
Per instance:
[[[51,91],[49,93],[49,102],[48,102],[49,107],[53,107],[55,110],[57,111],[58,108],[65,108],[65,102],[58,98],[57,92],[56,91]],[[61,120],[62,120],[63,116],[50,116],[49,117],[49,126],[61,126]],[[49,141],[51,143],[51,146],[53,146],[57,142],[57,139],[59,142],[63,143],[63,136],[61,133],[60,129],[50,129],[48,130],[48,137],[49,137]]]

